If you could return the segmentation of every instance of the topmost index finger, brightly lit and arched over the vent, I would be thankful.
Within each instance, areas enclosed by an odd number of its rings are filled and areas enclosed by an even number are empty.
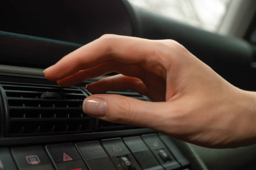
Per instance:
[[[159,47],[156,47],[153,40],[119,35],[103,36],[66,55],[55,65],[44,70],[44,75],[49,80],[61,80],[79,70],[108,60],[142,64],[152,70],[157,63],[166,63],[159,61],[155,56],[154,60],[152,59],[151,55],[157,50],[159,51]],[[163,75],[162,67],[155,67],[158,69],[156,74]]]

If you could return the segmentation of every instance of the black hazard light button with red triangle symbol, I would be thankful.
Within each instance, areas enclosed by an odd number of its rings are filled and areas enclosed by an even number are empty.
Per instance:
[[[88,170],[73,143],[46,145],[57,170]]]

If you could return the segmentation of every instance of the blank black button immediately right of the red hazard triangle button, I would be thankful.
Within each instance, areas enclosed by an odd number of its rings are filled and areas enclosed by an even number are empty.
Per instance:
[[[91,170],[116,170],[99,141],[75,144]]]

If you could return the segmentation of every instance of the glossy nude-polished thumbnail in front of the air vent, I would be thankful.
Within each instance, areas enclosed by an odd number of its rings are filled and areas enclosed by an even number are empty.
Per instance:
[[[96,97],[87,97],[84,99],[83,111],[92,116],[102,117],[106,115],[106,101]]]

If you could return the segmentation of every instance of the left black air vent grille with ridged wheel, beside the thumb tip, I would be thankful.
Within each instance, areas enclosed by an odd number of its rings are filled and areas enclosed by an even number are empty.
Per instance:
[[[78,87],[0,82],[5,104],[5,135],[85,133],[95,118],[82,112],[88,95]]]

